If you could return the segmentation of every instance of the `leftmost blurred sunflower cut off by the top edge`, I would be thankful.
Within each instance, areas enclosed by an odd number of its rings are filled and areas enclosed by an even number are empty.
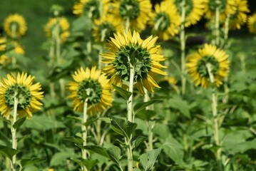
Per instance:
[[[99,19],[108,12],[110,0],[80,0],[73,6],[73,14],[88,15],[90,19]]]

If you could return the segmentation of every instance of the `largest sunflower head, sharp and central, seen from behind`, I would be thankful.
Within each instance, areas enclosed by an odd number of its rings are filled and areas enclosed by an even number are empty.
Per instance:
[[[159,54],[160,46],[155,46],[157,39],[150,36],[143,41],[137,31],[115,33],[109,41],[108,52],[101,55],[107,64],[103,72],[111,76],[110,83],[121,86],[123,81],[129,81],[131,64],[135,68],[134,82],[141,94],[144,94],[143,87],[150,92],[160,88],[154,78],[157,74],[167,74],[160,70],[166,67],[160,64],[165,58]]]

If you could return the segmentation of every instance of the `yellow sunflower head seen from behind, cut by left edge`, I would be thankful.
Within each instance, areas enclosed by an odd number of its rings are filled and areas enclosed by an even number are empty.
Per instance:
[[[34,82],[34,76],[27,73],[18,73],[15,77],[13,73],[0,82],[0,112],[4,118],[9,117],[11,110],[14,109],[14,95],[18,98],[17,113],[19,117],[31,118],[35,110],[43,105],[39,102],[43,98],[41,84]]]

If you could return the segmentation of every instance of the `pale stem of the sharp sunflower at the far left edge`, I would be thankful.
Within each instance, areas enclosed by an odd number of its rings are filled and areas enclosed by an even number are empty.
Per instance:
[[[16,139],[16,128],[14,128],[14,124],[16,123],[17,120],[17,108],[19,104],[19,100],[16,97],[18,93],[15,91],[14,93],[14,115],[13,115],[13,120],[11,122],[11,138],[12,138],[12,145],[11,147],[13,149],[17,149],[17,139]],[[15,165],[16,165],[16,155],[12,157],[12,170],[15,171]]]

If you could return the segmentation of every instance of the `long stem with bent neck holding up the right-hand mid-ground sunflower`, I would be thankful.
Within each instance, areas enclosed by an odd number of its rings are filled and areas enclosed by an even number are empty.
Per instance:
[[[215,83],[215,77],[212,73],[212,66],[210,63],[206,64],[206,68],[208,69],[208,74],[210,77],[210,83]],[[215,87],[212,87],[212,113],[213,113],[213,125],[214,125],[214,138],[215,144],[217,145],[217,151],[215,152],[215,157],[217,160],[217,170],[222,170],[222,162],[221,162],[221,147],[220,147],[220,134],[219,134],[219,118],[217,117],[217,95]]]

